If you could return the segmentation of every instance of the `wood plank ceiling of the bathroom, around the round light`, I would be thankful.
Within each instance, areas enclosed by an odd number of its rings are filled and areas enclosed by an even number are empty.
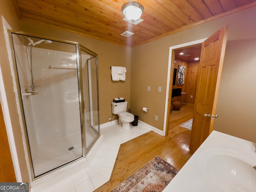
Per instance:
[[[143,22],[123,20],[124,0],[12,0],[21,20],[122,46],[138,46],[256,6],[256,0],[140,0]],[[126,38],[125,31],[134,35]]]

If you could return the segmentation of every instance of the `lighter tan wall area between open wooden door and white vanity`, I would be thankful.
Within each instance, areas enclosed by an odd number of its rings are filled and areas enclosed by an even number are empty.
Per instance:
[[[214,130],[256,143],[256,39],[226,46]]]

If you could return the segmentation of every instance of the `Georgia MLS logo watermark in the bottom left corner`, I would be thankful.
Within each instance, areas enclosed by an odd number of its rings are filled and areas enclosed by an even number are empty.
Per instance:
[[[28,182],[0,183],[0,192],[28,192]]]

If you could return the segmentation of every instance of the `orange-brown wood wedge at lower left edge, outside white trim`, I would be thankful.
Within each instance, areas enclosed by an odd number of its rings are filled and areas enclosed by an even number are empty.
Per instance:
[[[16,182],[12,156],[0,104],[0,182]]]

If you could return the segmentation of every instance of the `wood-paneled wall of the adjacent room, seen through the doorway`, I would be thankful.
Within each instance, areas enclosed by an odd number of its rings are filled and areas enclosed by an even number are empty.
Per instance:
[[[195,103],[195,96],[196,96],[196,84],[197,84],[197,76],[198,76],[198,69],[199,69],[199,62],[186,62],[182,60],[175,59],[174,68],[178,69],[179,65],[186,66],[185,70],[185,80],[184,85],[176,85],[177,78],[175,80],[175,85],[172,86],[173,89],[181,88],[182,92],[188,93],[186,96],[187,103],[194,104]],[[176,74],[176,77],[178,74]],[[192,96],[192,98],[191,98]],[[173,100],[181,101],[181,96],[172,97]]]

